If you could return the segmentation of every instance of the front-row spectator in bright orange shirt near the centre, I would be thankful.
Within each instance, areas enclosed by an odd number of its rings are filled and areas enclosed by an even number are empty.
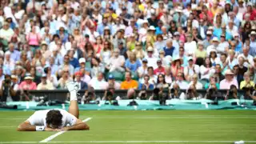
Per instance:
[[[127,91],[127,98],[134,98],[135,90],[138,89],[138,82],[131,78],[131,72],[126,72],[126,80],[121,83],[121,90]]]

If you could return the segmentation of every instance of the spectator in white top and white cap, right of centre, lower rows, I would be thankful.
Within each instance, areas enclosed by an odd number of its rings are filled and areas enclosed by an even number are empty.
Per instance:
[[[188,58],[188,66],[184,67],[184,74],[185,74],[185,78],[186,81],[191,81],[192,80],[192,76],[194,74],[199,74],[199,66],[194,64],[193,58],[189,57]]]

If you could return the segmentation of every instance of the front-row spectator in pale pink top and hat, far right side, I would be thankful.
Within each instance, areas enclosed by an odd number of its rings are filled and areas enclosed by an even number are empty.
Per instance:
[[[234,78],[234,73],[231,70],[226,70],[225,79],[220,82],[220,89],[229,90],[231,85],[236,86],[238,89],[238,81]]]

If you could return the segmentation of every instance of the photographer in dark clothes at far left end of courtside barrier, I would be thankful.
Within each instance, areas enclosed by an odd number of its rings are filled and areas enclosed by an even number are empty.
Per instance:
[[[14,75],[12,78],[14,78]],[[16,90],[18,90],[17,84],[11,81],[10,75],[5,75],[0,89],[0,102],[12,102],[17,100],[17,98],[15,98]]]

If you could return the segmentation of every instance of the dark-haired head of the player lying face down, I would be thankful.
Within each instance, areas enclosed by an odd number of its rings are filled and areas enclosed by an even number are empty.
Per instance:
[[[62,126],[62,114],[59,110],[50,110],[46,115],[47,126],[57,129]]]

